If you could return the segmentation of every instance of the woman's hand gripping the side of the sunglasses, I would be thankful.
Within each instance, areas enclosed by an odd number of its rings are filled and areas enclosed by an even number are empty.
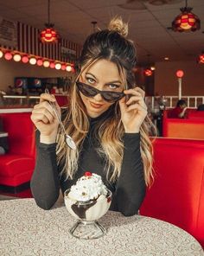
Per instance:
[[[127,101],[125,97],[119,100],[124,131],[130,133],[139,132],[140,126],[147,115],[147,106],[144,102],[145,93],[141,88],[136,87],[124,90],[124,94],[131,96]]]

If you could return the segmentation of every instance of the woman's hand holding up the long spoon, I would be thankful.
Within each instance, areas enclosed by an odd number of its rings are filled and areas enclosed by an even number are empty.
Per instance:
[[[34,106],[31,114],[31,120],[35,124],[36,128],[41,132],[41,142],[52,144],[55,142],[57,136],[59,122],[48,101],[54,103],[59,115],[61,116],[61,108],[57,104],[54,95],[42,93],[40,103]]]

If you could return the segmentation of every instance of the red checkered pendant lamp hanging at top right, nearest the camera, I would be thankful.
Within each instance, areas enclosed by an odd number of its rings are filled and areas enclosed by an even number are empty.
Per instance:
[[[180,10],[182,13],[175,17],[172,22],[172,30],[175,32],[188,32],[201,29],[201,21],[198,16],[191,12],[193,8],[188,7],[188,0],[186,0],[186,6]]]

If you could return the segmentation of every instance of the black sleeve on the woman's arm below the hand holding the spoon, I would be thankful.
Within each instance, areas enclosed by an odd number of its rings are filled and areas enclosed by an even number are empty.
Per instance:
[[[43,209],[52,208],[60,193],[59,172],[56,163],[56,144],[41,144],[36,131],[36,162],[30,188],[36,204]]]

